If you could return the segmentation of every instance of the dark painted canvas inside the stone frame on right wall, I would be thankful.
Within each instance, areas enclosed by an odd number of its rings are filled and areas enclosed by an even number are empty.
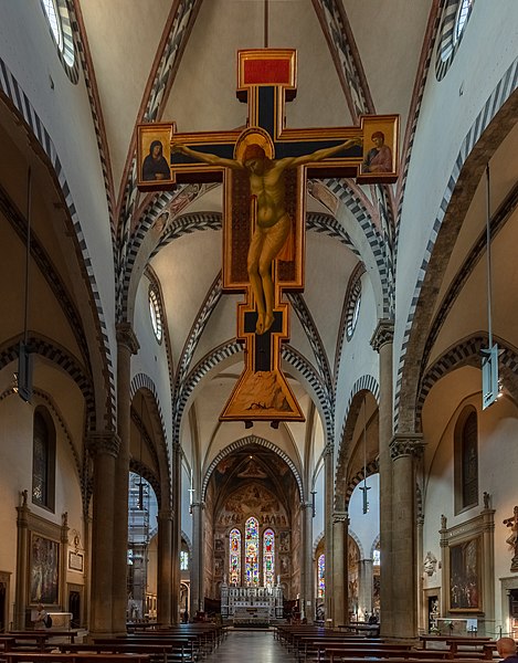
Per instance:
[[[480,612],[482,537],[450,546],[450,611]]]

